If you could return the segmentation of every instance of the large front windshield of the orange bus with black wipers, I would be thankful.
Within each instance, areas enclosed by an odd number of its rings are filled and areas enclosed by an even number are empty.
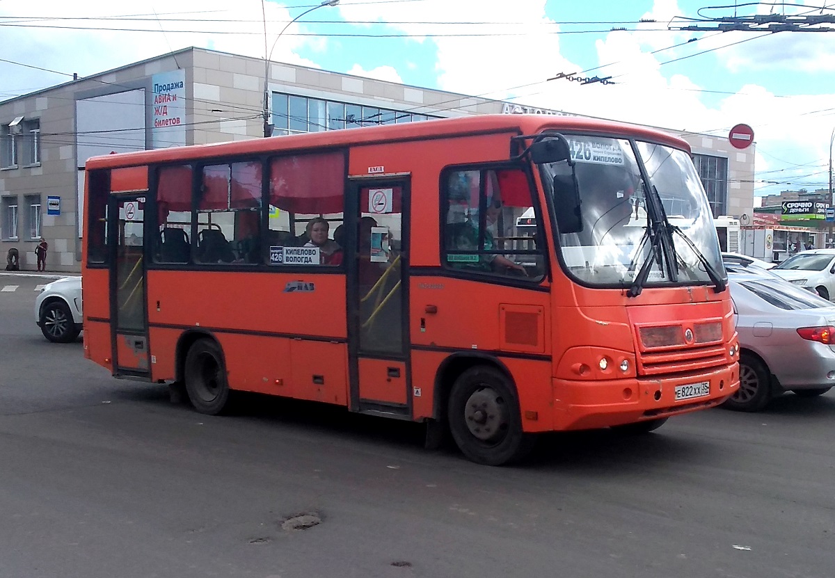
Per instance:
[[[549,195],[555,192],[554,176],[570,179],[572,170],[576,175],[580,231],[557,231],[570,275],[593,286],[630,286],[651,259],[643,286],[709,284],[726,276],[711,209],[685,151],[643,141],[633,147],[627,139],[574,134],[566,139],[574,167],[560,161],[540,170]],[[569,210],[556,201],[564,198],[554,195],[554,210]],[[658,231],[664,243],[656,242]],[[667,251],[661,251],[664,244]]]

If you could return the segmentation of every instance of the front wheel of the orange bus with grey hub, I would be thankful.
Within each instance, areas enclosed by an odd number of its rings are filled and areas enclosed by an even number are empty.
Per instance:
[[[477,464],[507,464],[534,447],[534,436],[522,431],[514,388],[495,368],[469,368],[455,380],[448,419],[455,444]]]

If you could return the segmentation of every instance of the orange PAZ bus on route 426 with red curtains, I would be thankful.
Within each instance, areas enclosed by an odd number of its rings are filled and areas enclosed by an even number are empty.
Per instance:
[[[317,400],[503,464],[738,388],[711,210],[660,131],[438,119],[96,157],[85,182],[86,357],[202,413]]]

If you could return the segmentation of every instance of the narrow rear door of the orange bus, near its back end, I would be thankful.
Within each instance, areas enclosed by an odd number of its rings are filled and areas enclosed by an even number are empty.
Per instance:
[[[150,374],[145,311],[145,194],[112,195],[109,215],[110,318],[114,375]]]

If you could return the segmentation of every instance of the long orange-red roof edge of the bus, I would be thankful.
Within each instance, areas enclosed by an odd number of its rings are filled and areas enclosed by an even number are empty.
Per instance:
[[[88,170],[106,169],[159,162],[185,162],[222,156],[259,155],[279,151],[371,145],[400,140],[437,139],[438,137],[459,134],[497,132],[539,134],[545,129],[600,135],[628,135],[690,152],[690,145],[685,140],[659,129],[650,129],[638,124],[550,114],[481,114],[454,119],[422,120],[406,124],[327,130],[317,133],[276,136],[269,139],[254,138],[210,145],[190,145],[170,149],[94,156],[87,160],[86,166]]]

